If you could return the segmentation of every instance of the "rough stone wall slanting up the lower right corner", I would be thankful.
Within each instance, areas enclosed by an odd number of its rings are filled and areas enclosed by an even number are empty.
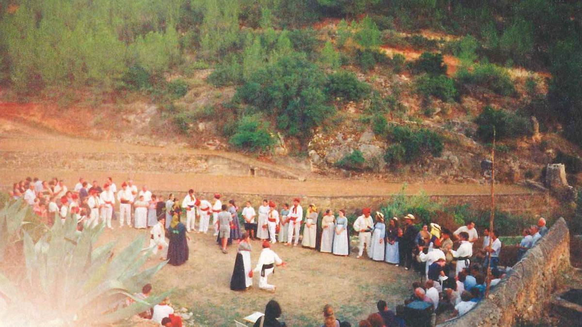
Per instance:
[[[463,317],[439,326],[513,326],[539,321],[561,272],[570,268],[570,234],[563,218],[513,266],[489,297]]]

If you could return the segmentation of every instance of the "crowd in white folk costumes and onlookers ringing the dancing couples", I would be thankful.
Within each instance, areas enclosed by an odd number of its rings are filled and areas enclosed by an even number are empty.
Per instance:
[[[80,178],[72,190],[56,177],[48,182],[28,177],[14,184],[10,196],[23,198],[48,225],[73,216],[79,222],[79,229],[98,223],[113,229],[113,220],[119,221],[119,228],[150,228],[147,249],[154,255],[161,251],[159,258],[168,260],[171,265],[181,265],[188,260],[187,242],[191,232],[208,233],[210,229],[222,253],[228,253],[233,241],[237,244],[230,282],[232,290],[249,289],[254,273],[258,273],[259,288],[274,292],[276,287],[268,283],[268,276],[276,266],[286,263],[272,250],[271,244],[279,242],[296,247],[301,240],[304,248],[347,256],[350,254],[350,234],[357,233],[357,258],[365,251],[371,260],[403,266],[406,270],[415,269],[426,280],[415,283],[413,294],[403,304],[398,317],[406,315],[406,310],[463,315],[483,298],[487,282],[495,286],[505,273],[498,266],[502,248],[498,232],[485,228],[482,246],[474,253],[479,236],[472,221],[455,232],[437,223],[421,225],[418,229],[413,214],[385,222],[382,212],[374,212],[372,218],[371,209],[363,208],[350,226],[345,210],[340,209],[335,216],[332,209],[326,209],[320,215],[315,204],[309,204],[304,211],[299,198],[294,198],[292,205],[282,204],[279,209],[268,199],[256,210],[250,201],[240,209],[234,200],[222,204],[221,194],[214,194],[211,202],[189,190],[182,201],[173,194],[165,200],[152,194],[145,185],[139,189],[131,179],[122,182],[118,189],[111,177],[103,184],[94,180],[90,186]],[[243,224],[239,222],[239,212]],[[524,230],[519,258],[547,232],[544,218],[540,218],[537,226]],[[255,239],[262,241],[262,250],[253,269],[250,252],[251,241]],[[488,266],[492,274],[487,281]],[[331,312],[332,308],[325,310]]]

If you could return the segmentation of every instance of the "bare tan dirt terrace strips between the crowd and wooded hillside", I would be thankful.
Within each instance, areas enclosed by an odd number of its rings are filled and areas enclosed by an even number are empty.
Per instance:
[[[99,141],[84,138],[71,138],[62,134],[49,133],[30,126],[0,118],[0,154],[16,153],[19,161],[11,165],[0,165],[0,186],[9,187],[13,182],[26,176],[38,176],[48,179],[59,176],[66,180],[70,186],[76,183],[79,176],[87,179],[105,180],[112,176],[114,180],[125,180],[133,177],[139,185],[147,184],[151,189],[158,191],[187,190],[194,187],[197,191],[204,192],[230,192],[247,194],[281,194],[301,196],[381,196],[398,193],[403,183],[388,183],[371,180],[338,180],[324,179],[323,177],[309,177],[306,182],[297,179],[275,179],[268,177],[243,177],[207,175],[200,173],[173,172],[171,163],[164,170],[134,170],[131,162],[120,164],[118,168],[111,170],[83,169],[75,166],[70,168],[47,167],[42,162],[34,162],[38,152],[51,152],[56,157],[73,158],[80,155],[93,154],[95,160],[103,158],[119,157],[127,154],[141,155],[219,155],[255,166],[268,166],[270,169],[285,169],[274,163],[264,163],[257,159],[245,157],[241,154],[230,152],[194,150],[191,148],[176,147],[152,147],[146,145],[123,144],[115,141]],[[26,158],[30,157],[30,161]],[[66,160],[65,160],[66,161]],[[163,163],[162,163],[163,164]],[[17,167],[17,166],[20,167]],[[289,172],[294,174],[298,172]],[[428,194],[487,194],[489,189],[478,184],[437,184],[417,183],[410,184],[406,191],[416,194],[424,190]],[[527,191],[519,186],[500,185],[496,191],[498,194],[514,194]]]

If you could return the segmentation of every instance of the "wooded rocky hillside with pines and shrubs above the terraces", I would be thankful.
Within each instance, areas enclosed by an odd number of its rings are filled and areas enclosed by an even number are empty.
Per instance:
[[[2,0],[0,83],[322,173],[474,180],[495,129],[516,182],[582,162],[581,40],[576,1]]]

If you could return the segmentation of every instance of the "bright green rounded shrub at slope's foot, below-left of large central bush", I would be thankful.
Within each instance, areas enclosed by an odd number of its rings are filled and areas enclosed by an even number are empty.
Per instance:
[[[252,115],[243,116],[237,122],[229,143],[251,152],[266,151],[275,144],[275,138],[269,133],[269,123],[262,120],[261,115]]]

